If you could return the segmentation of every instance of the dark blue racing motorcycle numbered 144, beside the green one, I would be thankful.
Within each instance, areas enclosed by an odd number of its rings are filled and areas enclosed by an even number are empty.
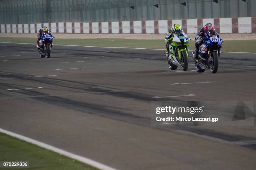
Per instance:
[[[209,37],[205,34],[204,44],[199,48],[199,59],[195,60],[195,69],[197,72],[205,72],[205,69],[210,69],[212,73],[218,71],[218,57],[223,40],[220,37],[213,35]],[[194,52],[193,52],[194,55]]]

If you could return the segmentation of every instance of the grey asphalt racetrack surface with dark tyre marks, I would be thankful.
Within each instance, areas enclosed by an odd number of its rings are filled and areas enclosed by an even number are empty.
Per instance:
[[[0,43],[0,128],[121,170],[255,169],[255,126],[152,126],[150,112],[154,100],[255,101],[256,54],[223,52],[212,74],[191,57],[168,70],[164,53],[55,45],[48,59]]]

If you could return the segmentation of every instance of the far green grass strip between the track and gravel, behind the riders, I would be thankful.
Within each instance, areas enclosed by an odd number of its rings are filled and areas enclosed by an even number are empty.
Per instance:
[[[35,43],[35,38],[0,37],[0,42]],[[54,44],[85,45],[96,47],[130,47],[164,49],[164,40],[127,40],[127,39],[54,39]],[[222,51],[227,52],[256,52],[256,40],[224,40]],[[189,50],[194,50],[195,41],[191,41]]]

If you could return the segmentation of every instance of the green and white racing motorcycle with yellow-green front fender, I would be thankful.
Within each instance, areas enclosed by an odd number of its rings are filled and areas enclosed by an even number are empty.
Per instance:
[[[188,67],[188,46],[191,39],[184,33],[174,34],[172,43],[169,45],[169,68],[176,70],[180,65],[186,71]]]

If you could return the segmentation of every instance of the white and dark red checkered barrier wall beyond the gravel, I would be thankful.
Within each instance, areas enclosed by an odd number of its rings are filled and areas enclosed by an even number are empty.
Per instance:
[[[161,34],[166,33],[173,24],[180,24],[187,33],[197,33],[206,23],[212,23],[220,33],[256,33],[256,17],[245,18],[207,18],[188,20],[146,20],[93,23],[32,23],[1,24],[1,33],[36,33],[44,25],[53,33],[123,33],[123,34]]]

